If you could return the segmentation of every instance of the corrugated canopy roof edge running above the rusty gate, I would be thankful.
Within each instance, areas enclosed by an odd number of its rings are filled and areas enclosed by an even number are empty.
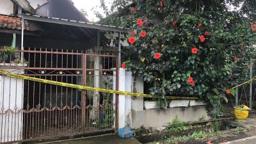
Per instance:
[[[92,29],[102,29],[106,31],[117,31],[122,33],[127,33],[129,29],[127,28],[120,28],[117,26],[108,26],[104,24],[94,24],[91,22],[79,22],[77,20],[68,20],[68,19],[61,19],[56,17],[42,17],[40,15],[30,15],[30,14],[22,14],[22,17],[26,20],[35,20],[41,22],[51,22],[55,24],[65,24],[69,26],[78,26],[83,28],[92,28]]]

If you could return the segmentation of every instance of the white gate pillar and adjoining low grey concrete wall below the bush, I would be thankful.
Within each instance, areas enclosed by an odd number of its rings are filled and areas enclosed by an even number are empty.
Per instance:
[[[143,79],[132,77],[131,72],[120,68],[119,90],[125,92],[143,93]],[[114,81],[115,84],[115,81]],[[168,122],[177,116],[184,122],[198,121],[204,117],[209,120],[206,106],[190,106],[188,108],[167,108],[167,109],[143,109],[143,97],[131,97],[119,95],[119,128],[130,126],[132,129],[143,127],[159,128],[168,125]]]

